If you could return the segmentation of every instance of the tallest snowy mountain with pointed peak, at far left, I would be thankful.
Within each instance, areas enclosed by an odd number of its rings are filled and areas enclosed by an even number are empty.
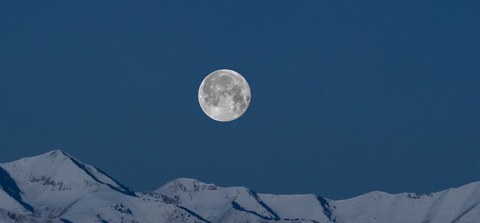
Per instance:
[[[59,150],[0,164],[0,189],[0,222],[202,222]]]

